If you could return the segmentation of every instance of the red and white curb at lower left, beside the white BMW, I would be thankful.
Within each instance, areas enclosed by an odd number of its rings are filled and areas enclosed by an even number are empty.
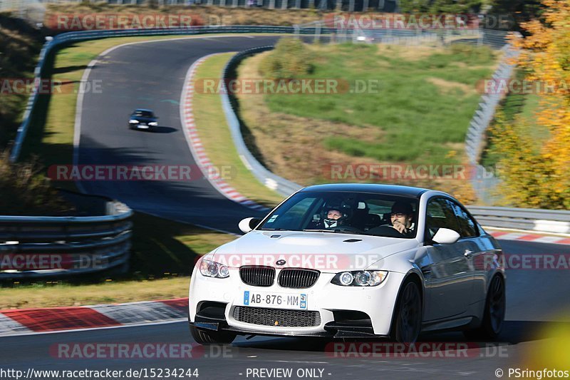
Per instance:
[[[187,320],[188,299],[0,310],[0,337]]]

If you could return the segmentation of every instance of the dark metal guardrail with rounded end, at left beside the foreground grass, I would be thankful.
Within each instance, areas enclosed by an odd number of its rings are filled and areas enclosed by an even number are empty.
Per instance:
[[[124,269],[133,211],[98,197],[106,215],[0,216],[0,279],[61,277]]]

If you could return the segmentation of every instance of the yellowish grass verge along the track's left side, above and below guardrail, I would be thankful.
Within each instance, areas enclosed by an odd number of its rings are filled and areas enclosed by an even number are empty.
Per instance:
[[[64,81],[61,93],[42,95],[23,150],[24,157],[38,155],[48,166],[71,162],[77,89],[88,63],[120,43],[180,36],[108,38],[73,44],[54,54],[46,71]],[[65,88],[70,86],[70,88]],[[130,271],[115,276],[4,284],[0,308],[52,307],[100,302],[130,302],[186,297],[195,260],[233,235],[141,213],[133,217]],[[103,283],[100,283],[102,282]],[[37,295],[32,295],[37,294]]]

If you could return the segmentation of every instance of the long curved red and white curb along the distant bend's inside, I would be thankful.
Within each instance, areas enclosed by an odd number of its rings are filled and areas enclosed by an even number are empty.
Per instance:
[[[196,123],[194,120],[192,98],[194,96],[194,76],[197,68],[209,57],[216,56],[216,54],[209,54],[208,56],[203,56],[199,58],[195,63],[190,66],[186,73],[186,78],[184,81],[184,86],[182,88],[182,95],[180,96],[180,120],[182,120],[182,129],[184,130],[184,135],[186,137],[190,151],[194,156],[196,163],[205,178],[209,180],[214,188],[216,188],[222,195],[227,197],[229,200],[244,205],[245,207],[252,208],[254,210],[268,211],[269,208],[257,204],[253,200],[249,200],[247,197],[242,195],[240,192],[232,188],[228,183],[226,183],[222,178],[219,178],[212,173],[218,173],[218,170],[214,167],[212,162],[209,160],[206,150],[202,145],[199,138],[199,133],[196,128]],[[206,133],[202,131],[202,133]]]

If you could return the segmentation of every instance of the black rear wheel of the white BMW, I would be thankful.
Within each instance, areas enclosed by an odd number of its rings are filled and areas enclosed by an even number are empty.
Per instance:
[[[503,278],[497,274],[491,280],[487,298],[485,299],[485,309],[481,326],[477,329],[470,329],[463,332],[467,339],[495,339],[501,333],[504,313],[507,309],[507,298]]]

